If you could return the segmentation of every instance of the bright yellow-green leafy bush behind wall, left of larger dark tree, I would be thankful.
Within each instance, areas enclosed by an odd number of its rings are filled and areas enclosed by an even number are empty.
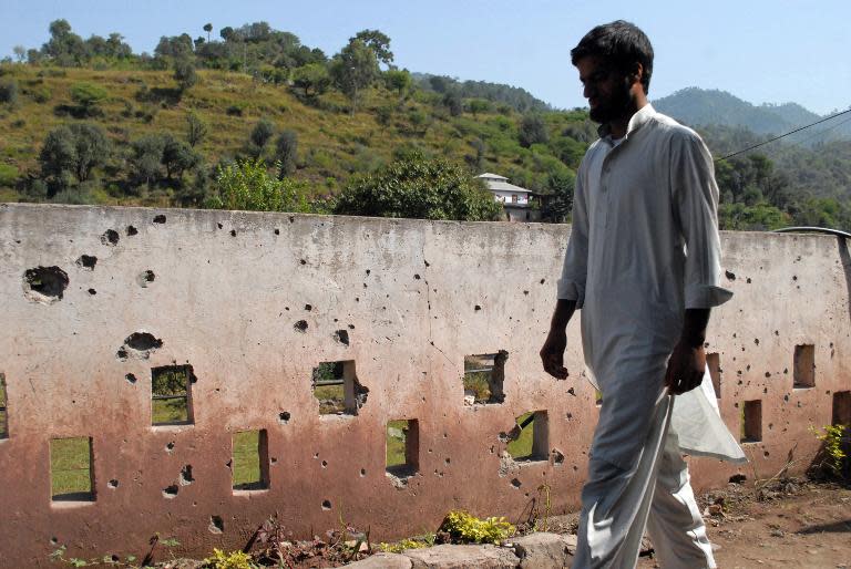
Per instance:
[[[207,207],[253,211],[304,211],[305,188],[291,179],[270,176],[263,161],[238,161],[219,167]]]

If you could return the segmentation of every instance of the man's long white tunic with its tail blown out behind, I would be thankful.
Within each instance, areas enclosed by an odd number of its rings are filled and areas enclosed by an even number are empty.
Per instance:
[[[650,428],[687,308],[712,308],[719,286],[718,187],[700,137],[644,106],[626,136],[602,138],[576,176],[558,298],[582,314],[585,362],[603,393],[592,453],[629,468]],[[685,453],[745,461],[718,414],[709,374],[675,400]]]

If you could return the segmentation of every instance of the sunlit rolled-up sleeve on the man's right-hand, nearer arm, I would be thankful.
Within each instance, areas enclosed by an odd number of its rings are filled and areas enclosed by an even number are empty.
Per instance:
[[[712,157],[690,131],[673,137],[670,156],[674,207],[686,242],[686,308],[717,307],[732,292],[719,284],[721,245]]]

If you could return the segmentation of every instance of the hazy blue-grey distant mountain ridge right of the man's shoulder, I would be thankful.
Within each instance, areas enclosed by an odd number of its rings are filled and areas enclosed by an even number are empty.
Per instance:
[[[687,87],[653,101],[662,113],[691,126],[739,126],[761,135],[779,135],[814,123],[821,115],[798,103],[759,106],[719,90]],[[818,142],[851,138],[851,122],[829,121],[790,136],[788,142],[812,145]]]

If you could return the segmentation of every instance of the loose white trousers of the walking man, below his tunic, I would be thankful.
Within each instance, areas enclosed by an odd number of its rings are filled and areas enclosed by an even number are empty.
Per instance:
[[[634,568],[645,527],[664,569],[716,567],[688,465],[669,432],[673,401],[664,392],[656,402],[633,468],[594,459],[592,449],[573,569]]]

